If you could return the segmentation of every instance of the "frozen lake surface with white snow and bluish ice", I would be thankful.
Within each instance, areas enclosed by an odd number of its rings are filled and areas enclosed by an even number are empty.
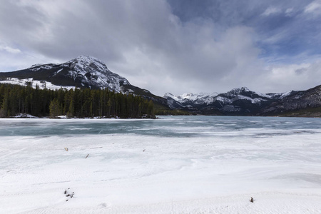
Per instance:
[[[321,213],[319,119],[206,120],[1,119],[0,213]]]

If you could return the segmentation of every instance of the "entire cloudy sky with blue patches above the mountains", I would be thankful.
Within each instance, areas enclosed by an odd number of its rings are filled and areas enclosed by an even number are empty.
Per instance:
[[[321,0],[0,0],[0,72],[94,56],[134,86],[321,84]]]

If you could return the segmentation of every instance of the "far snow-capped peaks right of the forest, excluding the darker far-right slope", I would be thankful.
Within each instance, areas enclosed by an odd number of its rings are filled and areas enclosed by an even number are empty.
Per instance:
[[[226,93],[184,93],[174,96],[165,93],[170,108],[178,108],[201,114],[215,115],[255,115],[263,108],[277,100],[290,96],[294,91],[287,93],[258,93],[246,87],[233,88]]]

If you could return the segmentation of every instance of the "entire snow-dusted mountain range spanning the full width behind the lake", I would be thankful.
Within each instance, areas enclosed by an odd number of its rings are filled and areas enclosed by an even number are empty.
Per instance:
[[[133,93],[152,100],[167,113],[230,116],[321,116],[321,86],[307,91],[258,93],[246,87],[226,93],[184,93],[156,96],[146,89],[111,72],[105,63],[92,56],[78,56],[61,64],[36,64],[19,71],[0,72],[0,83],[39,86],[39,88],[108,88],[118,93]]]

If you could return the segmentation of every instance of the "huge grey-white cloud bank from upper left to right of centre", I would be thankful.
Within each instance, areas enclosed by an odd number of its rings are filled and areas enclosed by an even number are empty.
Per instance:
[[[222,30],[206,19],[183,23],[166,1],[24,2],[15,11],[36,14],[26,16],[28,27],[24,16],[17,16],[11,23],[14,32],[1,31],[1,36],[9,40],[15,34],[24,49],[65,61],[79,54],[96,56],[131,83],[156,92],[163,92],[164,85],[168,91],[203,90],[240,72],[259,52],[252,29]],[[16,34],[21,29],[24,34]]]

